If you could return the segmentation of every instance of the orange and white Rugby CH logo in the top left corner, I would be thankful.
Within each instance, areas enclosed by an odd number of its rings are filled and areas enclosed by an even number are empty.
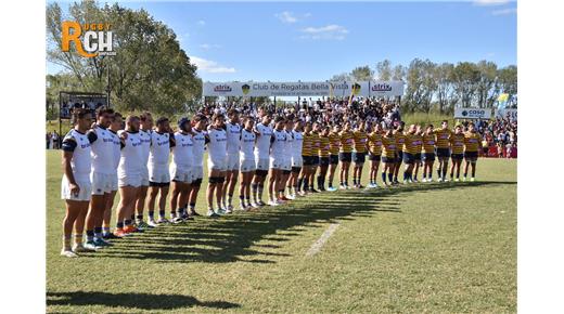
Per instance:
[[[65,21],[62,26],[62,51],[68,52],[70,42],[74,42],[76,51],[84,57],[116,55],[111,24],[89,23],[80,25],[78,22]]]

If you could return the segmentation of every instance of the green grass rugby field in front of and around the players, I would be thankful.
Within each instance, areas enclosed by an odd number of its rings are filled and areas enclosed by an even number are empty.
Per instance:
[[[516,312],[515,160],[480,159],[475,183],[318,194],[67,259],[59,154],[47,153],[48,312]]]

